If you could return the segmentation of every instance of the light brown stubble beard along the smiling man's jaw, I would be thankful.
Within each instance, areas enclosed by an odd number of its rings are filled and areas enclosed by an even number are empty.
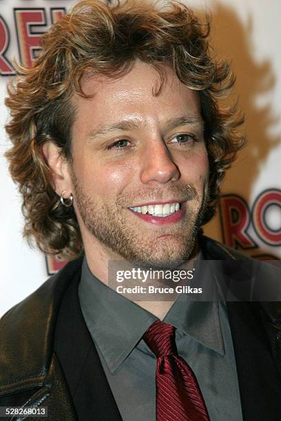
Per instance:
[[[181,194],[183,191],[189,191],[189,197],[193,195],[197,203],[196,210],[189,210],[187,201],[189,217],[181,224],[180,235],[178,227],[171,226],[169,227],[171,238],[157,240],[152,238],[152,231],[149,228],[147,231],[141,230],[134,223],[134,219],[126,217],[126,212],[130,210],[125,210],[120,204],[125,200],[127,202],[127,197],[126,199],[118,197],[116,204],[105,206],[85,193],[74,173],[72,182],[76,207],[87,230],[101,244],[126,261],[144,268],[172,269],[182,265],[191,257],[207,206],[206,195],[203,195],[200,201],[193,186],[177,187]],[[153,194],[155,197],[155,189]]]

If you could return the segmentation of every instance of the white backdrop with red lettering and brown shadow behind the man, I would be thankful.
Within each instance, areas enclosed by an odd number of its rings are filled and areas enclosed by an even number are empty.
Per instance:
[[[22,238],[21,197],[8,174],[4,126],[6,84],[14,59],[32,65],[40,36],[76,2],[0,0],[0,316],[38,288],[63,262]],[[190,0],[212,17],[211,43],[231,63],[249,144],[222,186],[216,218],[205,234],[256,259],[281,257],[280,0]]]

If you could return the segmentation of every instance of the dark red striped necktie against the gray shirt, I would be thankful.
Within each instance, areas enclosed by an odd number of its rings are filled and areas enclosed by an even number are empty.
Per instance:
[[[193,371],[178,356],[175,327],[154,322],[143,336],[157,359],[156,421],[209,421]]]

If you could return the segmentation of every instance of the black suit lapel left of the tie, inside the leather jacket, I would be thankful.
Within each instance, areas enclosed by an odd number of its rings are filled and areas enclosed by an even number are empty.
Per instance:
[[[79,420],[118,421],[121,415],[87,330],[78,299],[76,277],[65,291],[56,323],[58,356]]]

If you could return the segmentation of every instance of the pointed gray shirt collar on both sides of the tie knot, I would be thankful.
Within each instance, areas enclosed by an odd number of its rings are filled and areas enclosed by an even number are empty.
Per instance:
[[[200,254],[192,284],[203,280],[206,285],[215,285],[216,282],[211,281],[214,277],[206,269],[207,265],[200,265],[201,260]],[[158,320],[99,281],[90,272],[85,258],[79,283],[79,301],[92,339],[112,373],[136,347],[148,327]],[[216,300],[189,301],[187,294],[180,294],[163,321],[192,336],[202,345],[224,354],[219,316],[219,306],[222,304]]]

